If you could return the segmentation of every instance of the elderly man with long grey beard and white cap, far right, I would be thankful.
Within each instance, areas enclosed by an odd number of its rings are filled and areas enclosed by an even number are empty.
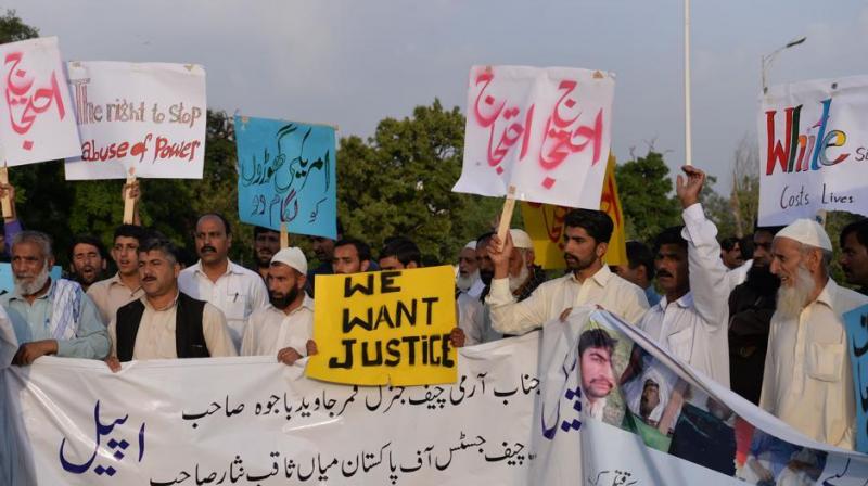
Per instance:
[[[842,315],[868,296],[829,277],[832,243],[816,221],[797,219],[771,242],[780,290],[768,336],[760,406],[808,437],[855,446],[853,368]]]

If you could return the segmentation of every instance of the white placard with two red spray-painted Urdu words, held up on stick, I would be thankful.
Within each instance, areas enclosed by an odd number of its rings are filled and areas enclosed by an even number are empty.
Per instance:
[[[599,71],[473,66],[452,191],[599,209],[614,89]]]

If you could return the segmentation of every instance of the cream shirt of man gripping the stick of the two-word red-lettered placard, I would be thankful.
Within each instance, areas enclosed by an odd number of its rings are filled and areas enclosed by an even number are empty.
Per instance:
[[[503,334],[524,334],[575,306],[598,305],[630,323],[648,309],[644,291],[612,273],[605,265],[582,283],[572,272],[544,282],[522,302],[510,292],[509,279],[495,279],[485,303],[492,328]]]

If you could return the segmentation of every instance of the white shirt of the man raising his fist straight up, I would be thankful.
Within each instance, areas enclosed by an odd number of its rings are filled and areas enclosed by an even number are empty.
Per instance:
[[[729,387],[729,280],[717,228],[701,204],[682,212],[690,292],[650,308],[639,328],[681,361]]]

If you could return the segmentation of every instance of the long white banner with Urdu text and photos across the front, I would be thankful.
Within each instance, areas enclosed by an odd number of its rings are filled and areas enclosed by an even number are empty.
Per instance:
[[[630,380],[626,364],[639,348],[644,359],[635,362],[667,372],[636,374],[646,395],[637,409],[615,376]],[[868,479],[866,456],[805,438],[591,308],[574,308],[567,323],[541,333],[461,349],[455,385],[331,385],[305,379],[303,366],[270,357],[142,361],[112,374],[99,361],[41,358],[8,368],[0,484]],[[649,376],[673,381],[660,396],[660,421],[648,413],[656,405]]]

